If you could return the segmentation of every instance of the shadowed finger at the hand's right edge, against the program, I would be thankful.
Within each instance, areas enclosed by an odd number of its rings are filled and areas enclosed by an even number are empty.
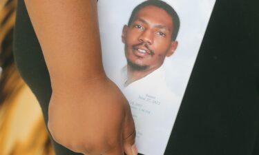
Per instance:
[[[128,116],[125,117],[124,129],[123,129],[123,147],[124,152],[127,155],[137,155],[137,147],[135,145],[135,124],[131,111]]]

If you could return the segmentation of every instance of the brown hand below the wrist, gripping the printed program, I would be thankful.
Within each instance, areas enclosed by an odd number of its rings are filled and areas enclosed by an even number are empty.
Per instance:
[[[64,83],[66,85],[66,83]],[[48,111],[52,137],[87,155],[136,155],[131,108],[108,78],[88,80],[52,92]],[[134,145],[135,146],[135,145]]]

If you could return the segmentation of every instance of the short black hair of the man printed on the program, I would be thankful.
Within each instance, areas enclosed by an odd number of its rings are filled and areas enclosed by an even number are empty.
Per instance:
[[[128,20],[128,25],[131,25],[131,23],[132,23],[132,21],[133,21],[133,19],[135,17],[135,14],[137,14],[137,12],[139,12],[142,8],[144,8],[146,6],[155,6],[157,8],[162,8],[163,10],[165,10],[172,17],[173,33],[172,33],[171,39],[173,41],[175,41],[176,37],[178,36],[178,31],[179,31],[179,28],[180,28],[180,19],[178,17],[178,14],[175,12],[175,10],[168,3],[164,2],[164,1],[160,1],[160,0],[147,0],[147,1],[144,1],[144,2],[140,3],[132,11],[131,17]]]

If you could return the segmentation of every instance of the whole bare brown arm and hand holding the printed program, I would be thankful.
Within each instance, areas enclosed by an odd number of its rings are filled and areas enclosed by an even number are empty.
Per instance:
[[[50,73],[52,137],[82,154],[137,154],[131,108],[102,65],[96,0],[25,3]]]

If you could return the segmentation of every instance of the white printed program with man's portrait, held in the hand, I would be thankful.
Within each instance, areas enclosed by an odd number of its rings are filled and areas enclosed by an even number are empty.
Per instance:
[[[140,154],[164,154],[214,4],[98,1],[104,69],[131,105]]]

